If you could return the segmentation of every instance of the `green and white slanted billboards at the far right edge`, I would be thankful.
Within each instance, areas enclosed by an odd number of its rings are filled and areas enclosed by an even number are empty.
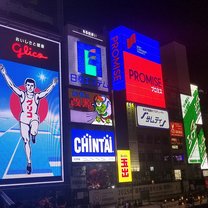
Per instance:
[[[202,117],[198,87],[191,85],[191,96],[180,95],[188,163],[201,163],[207,166],[205,137],[202,129]]]

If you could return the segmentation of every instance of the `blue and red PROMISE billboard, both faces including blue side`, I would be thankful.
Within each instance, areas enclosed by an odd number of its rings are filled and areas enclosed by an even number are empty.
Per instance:
[[[165,108],[159,43],[126,27],[110,33],[114,90],[126,90],[126,100]]]

